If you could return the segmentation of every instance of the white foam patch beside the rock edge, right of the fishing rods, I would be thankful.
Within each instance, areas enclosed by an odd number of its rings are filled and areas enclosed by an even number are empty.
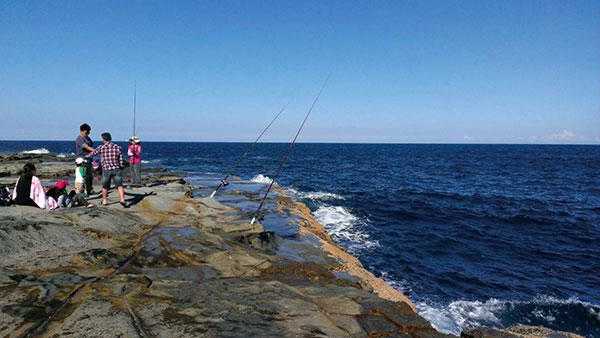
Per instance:
[[[370,240],[368,234],[361,232],[361,220],[344,207],[323,205],[313,214],[335,239],[350,242],[350,251],[379,245]]]

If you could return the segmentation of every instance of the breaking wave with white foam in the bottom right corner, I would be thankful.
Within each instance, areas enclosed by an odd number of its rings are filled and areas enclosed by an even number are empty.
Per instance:
[[[492,298],[485,302],[458,300],[442,307],[425,302],[416,306],[419,314],[435,329],[454,335],[480,326],[502,328],[517,323],[541,325],[591,337],[600,334],[600,307],[577,298],[565,300],[538,296],[529,301]]]

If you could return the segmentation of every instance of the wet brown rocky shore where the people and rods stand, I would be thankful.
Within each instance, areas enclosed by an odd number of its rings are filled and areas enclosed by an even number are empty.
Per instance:
[[[69,159],[15,155],[0,157],[0,186],[26,161],[43,180],[72,179]],[[144,183],[128,189],[128,209],[114,193],[92,209],[0,207],[1,336],[447,336],[282,191],[267,210],[294,238],[249,224],[247,190],[194,197],[164,170]],[[526,327],[463,335],[575,337]]]

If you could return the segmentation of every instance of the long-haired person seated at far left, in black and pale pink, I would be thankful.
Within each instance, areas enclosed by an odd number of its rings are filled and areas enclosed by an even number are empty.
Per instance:
[[[13,202],[17,205],[27,205],[37,208],[46,208],[46,194],[39,178],[35,177],[35,166],[26,163],[17,179],[13,190]]]

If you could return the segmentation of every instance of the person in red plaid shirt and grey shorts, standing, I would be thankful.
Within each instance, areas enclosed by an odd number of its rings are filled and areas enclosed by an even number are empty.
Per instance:
[[[100,155],[102,163],[102,205],[108,204],[108,189],[112,180],[119,191],[119,202],[124,208],[127,208],[125,190],[123,189],[123,175],[121,173],[123,153],[121,147],[112,142],[110,133],[102,134],[102,145],[89,153],[87,157],[96,155]]]

